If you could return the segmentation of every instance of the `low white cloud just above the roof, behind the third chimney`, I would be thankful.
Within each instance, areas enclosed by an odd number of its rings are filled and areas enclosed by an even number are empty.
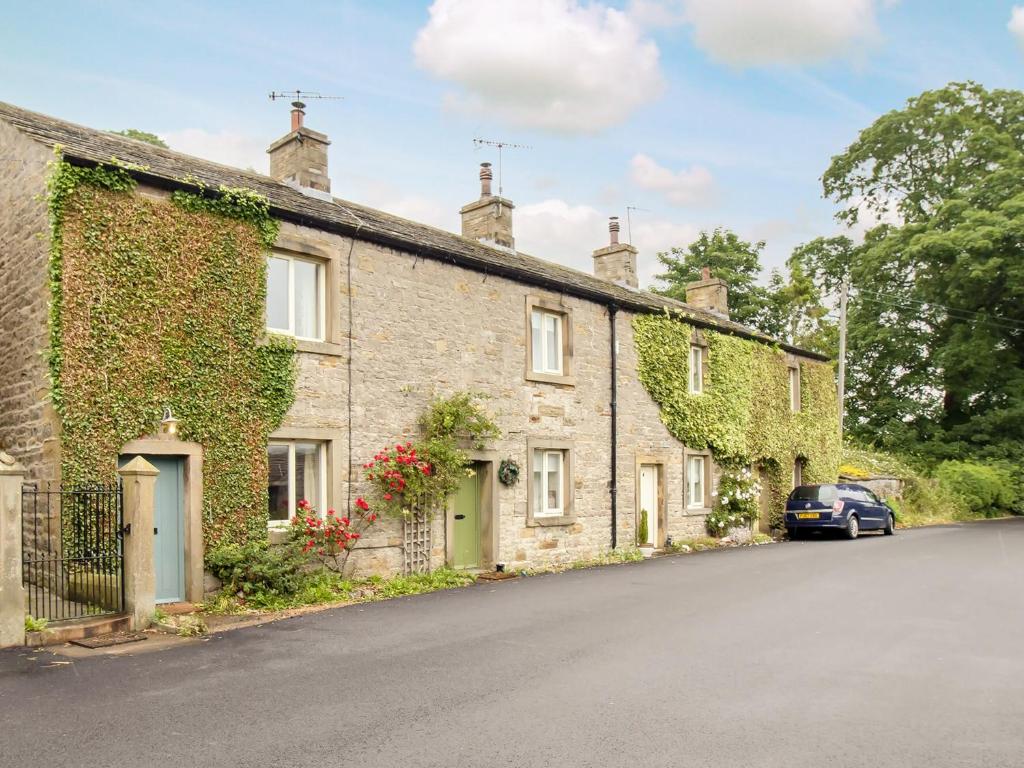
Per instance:
[[[515,210],[516,248],[542,259],[556,261],[585,272],[594,271],[592,254],[608,244],[608,215],[589,205],[570,205],[551,199]],[[630,237],[622,221],[623,241]],[[633,245],[639,250],[637,271],[640,286],[647,288],[660,271],[655,254],[696,239],[698,227],[662,218],[638,218],[632,222]]]

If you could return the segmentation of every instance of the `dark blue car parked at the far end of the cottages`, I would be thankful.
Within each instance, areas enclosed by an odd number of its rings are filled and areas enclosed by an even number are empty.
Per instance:
[[[839,530],[856,539],[861,530],[896,532],[896,513],[869,488],[853,482],[799,485],[785,501],[785,532]]]

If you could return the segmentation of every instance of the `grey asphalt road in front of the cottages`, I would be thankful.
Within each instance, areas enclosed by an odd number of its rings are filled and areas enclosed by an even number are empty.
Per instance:
[[[46,667],[0,766],[1024,765],[1024,519],[480,584]]]

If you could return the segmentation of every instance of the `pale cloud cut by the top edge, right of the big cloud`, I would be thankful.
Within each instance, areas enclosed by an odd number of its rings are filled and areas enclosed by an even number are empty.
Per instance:
[[[895,0],[636,0],[638,24],[688,23],[701,50],[734,67],[848,56],[879,37],[877,10]]]

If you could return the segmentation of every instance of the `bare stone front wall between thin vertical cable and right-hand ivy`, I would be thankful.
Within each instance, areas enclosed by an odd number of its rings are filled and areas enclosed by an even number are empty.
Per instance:
[[[610,548],[610,324],[604,306],[452,264],[416,259],[358,242],[353,258],[353,473],[380,449],[416,434],[433,394],[473,390],[502,429],[488,447],[522,468],[514,487],[499,485],[497,560],[512,568],[592,557]],[[561,301],[573,324],[572,386],[527,381],[527,296]],[[668,532],[703,531],[703,515],[683,503],[683,446],[660,422],[636,377],[632,315],[618,312],[618,545],[635,541],[638,457],[664,464]],[[570,440],[575,522],[527,526],[527,438]],[[355,494],[368,488],[357,483]],[[444,521],[433,530],[434,563],[444,557]],[[401,526],[378,526],[359,571],[401,566]]]

